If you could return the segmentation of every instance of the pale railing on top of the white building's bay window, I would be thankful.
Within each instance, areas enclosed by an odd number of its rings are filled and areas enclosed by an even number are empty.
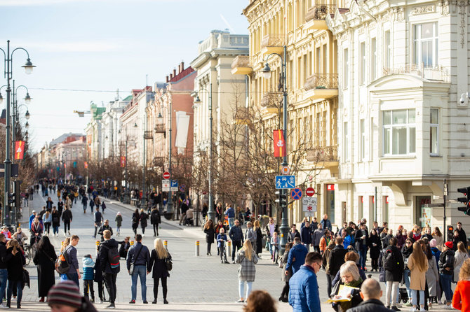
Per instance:
[[[429,80],[439,80],[445,83],[450,83],[449,71],[446,67],[436,65],[428,66],[422,64],[407,64],[396,68],[384,68],[382,71],[384,76],[397,74],[397,73],[410,73]]]

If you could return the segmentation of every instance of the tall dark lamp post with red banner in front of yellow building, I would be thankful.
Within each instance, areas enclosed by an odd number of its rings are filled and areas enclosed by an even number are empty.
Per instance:
[[[262,69],[262,76],[265,79],[271,78],[271,68],[268,64],[268,59],[271,55],[277,55],[281,58],[282,66],[281,66],[281,80],[282,80],[282,92],[283,92],[283,133],[284,133],[284,142],[286,142],[286,156],[283,156],[283,166],[288,165],[287,159],[287,89],[286,89],[286,59],[287,59],[287,47],[286,45],[283,46],[283,55],[279,55],[278,53],[271,53],[266,57],[266,64]],[[287,190],[280,190],[280,196],[285,197],[287,195]],[[281,207],[282,206],[282,207]],[[284,252],[286,249],[287,243],[287,236],[289,232],[289,225],[288,225],[288,208],[287,203],[281,204],[281,200],[279,201],[279,208],[282,208],[282,221],[281,221],[281,253]]]

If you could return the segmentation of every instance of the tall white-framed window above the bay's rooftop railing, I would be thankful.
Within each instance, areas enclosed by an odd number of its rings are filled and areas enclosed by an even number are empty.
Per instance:
[[[437,58],[437,23],[415,25],[415,64],[436,66]]]

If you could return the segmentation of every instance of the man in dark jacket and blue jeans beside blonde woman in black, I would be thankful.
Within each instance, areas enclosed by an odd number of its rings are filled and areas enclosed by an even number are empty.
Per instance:
[[[150,262],[149,248],[142,245],[142,235],[137,234],[135,236],[135,243],[127,254],[126,266],[127,271],[132,278],[132,285],[130,286],[130,292],[132,299],[130,304],[135,304],[137,298],[137,277],[140,278],[140,288],[142,290],[142,301],[147,304],[147,281],[146,281],[146,270],[147,265]],[[130,271],[132,269],[132,272]]]

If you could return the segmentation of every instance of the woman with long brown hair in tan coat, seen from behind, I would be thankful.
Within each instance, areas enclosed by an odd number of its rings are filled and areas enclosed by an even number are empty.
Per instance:
[[[410,289],[412,297],[412,309],[417,311],[417,292],[419,292],[420,310],[424,311],[424,290],[426,289],[426,272],[429,264],[423,253],[421,243],[413,243],[413,251],[408,258],[408,269],[410,269]]]

